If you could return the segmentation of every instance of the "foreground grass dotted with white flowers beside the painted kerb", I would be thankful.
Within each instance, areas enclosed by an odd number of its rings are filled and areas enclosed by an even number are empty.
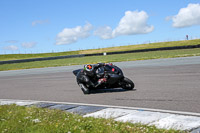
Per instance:
[[[1,133],[178,133],[154,126],[117,122],[112,119],[84,118],[60,110],[0,106]]]

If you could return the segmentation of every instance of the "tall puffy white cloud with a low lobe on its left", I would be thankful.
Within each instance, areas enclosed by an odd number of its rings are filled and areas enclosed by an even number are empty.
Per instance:
[[[95,35],[102,39],[111,39],[120,35],[146,34],[154,30],[154,26],[147,24],[147,19],[145,11],[126,11],[114,30],[109,26],[101,27],[95,31]]]

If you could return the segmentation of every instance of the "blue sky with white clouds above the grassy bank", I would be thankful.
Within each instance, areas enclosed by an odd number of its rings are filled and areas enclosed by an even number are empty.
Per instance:
[[[200,38],[199,0],[1,0],[0,54]]]

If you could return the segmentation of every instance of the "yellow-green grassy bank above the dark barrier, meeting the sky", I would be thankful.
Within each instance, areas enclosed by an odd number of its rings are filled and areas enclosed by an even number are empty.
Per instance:
[[[103,53],[103,52],[129,51],[129,50],[138,50],[138,49],[185,46],[185,45],[198,45],[198,44],[200,44],[200,39],[184,40],[184,41],[172,41],[172,42],[159,42],[159,43],[149,43],[149,44],[140,44],[140,45],[128,45],[128,46],[120,46],[120,47],[110,47],[110,48],[70,51],[70,52],[60,52],[60,53],[9,54],[9,55],[0,55],[0,61],[41,58],[41,57],[53,57],[53,56],[64,56],[64,55],[76,55],[76,54],[91,54],[91,53]]]

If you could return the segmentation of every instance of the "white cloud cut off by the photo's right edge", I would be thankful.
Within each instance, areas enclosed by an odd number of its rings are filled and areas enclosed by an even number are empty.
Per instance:
[[[181,8],[172,21],[175,28],[200,25],[200,4],[188,4],[186,8]]]

